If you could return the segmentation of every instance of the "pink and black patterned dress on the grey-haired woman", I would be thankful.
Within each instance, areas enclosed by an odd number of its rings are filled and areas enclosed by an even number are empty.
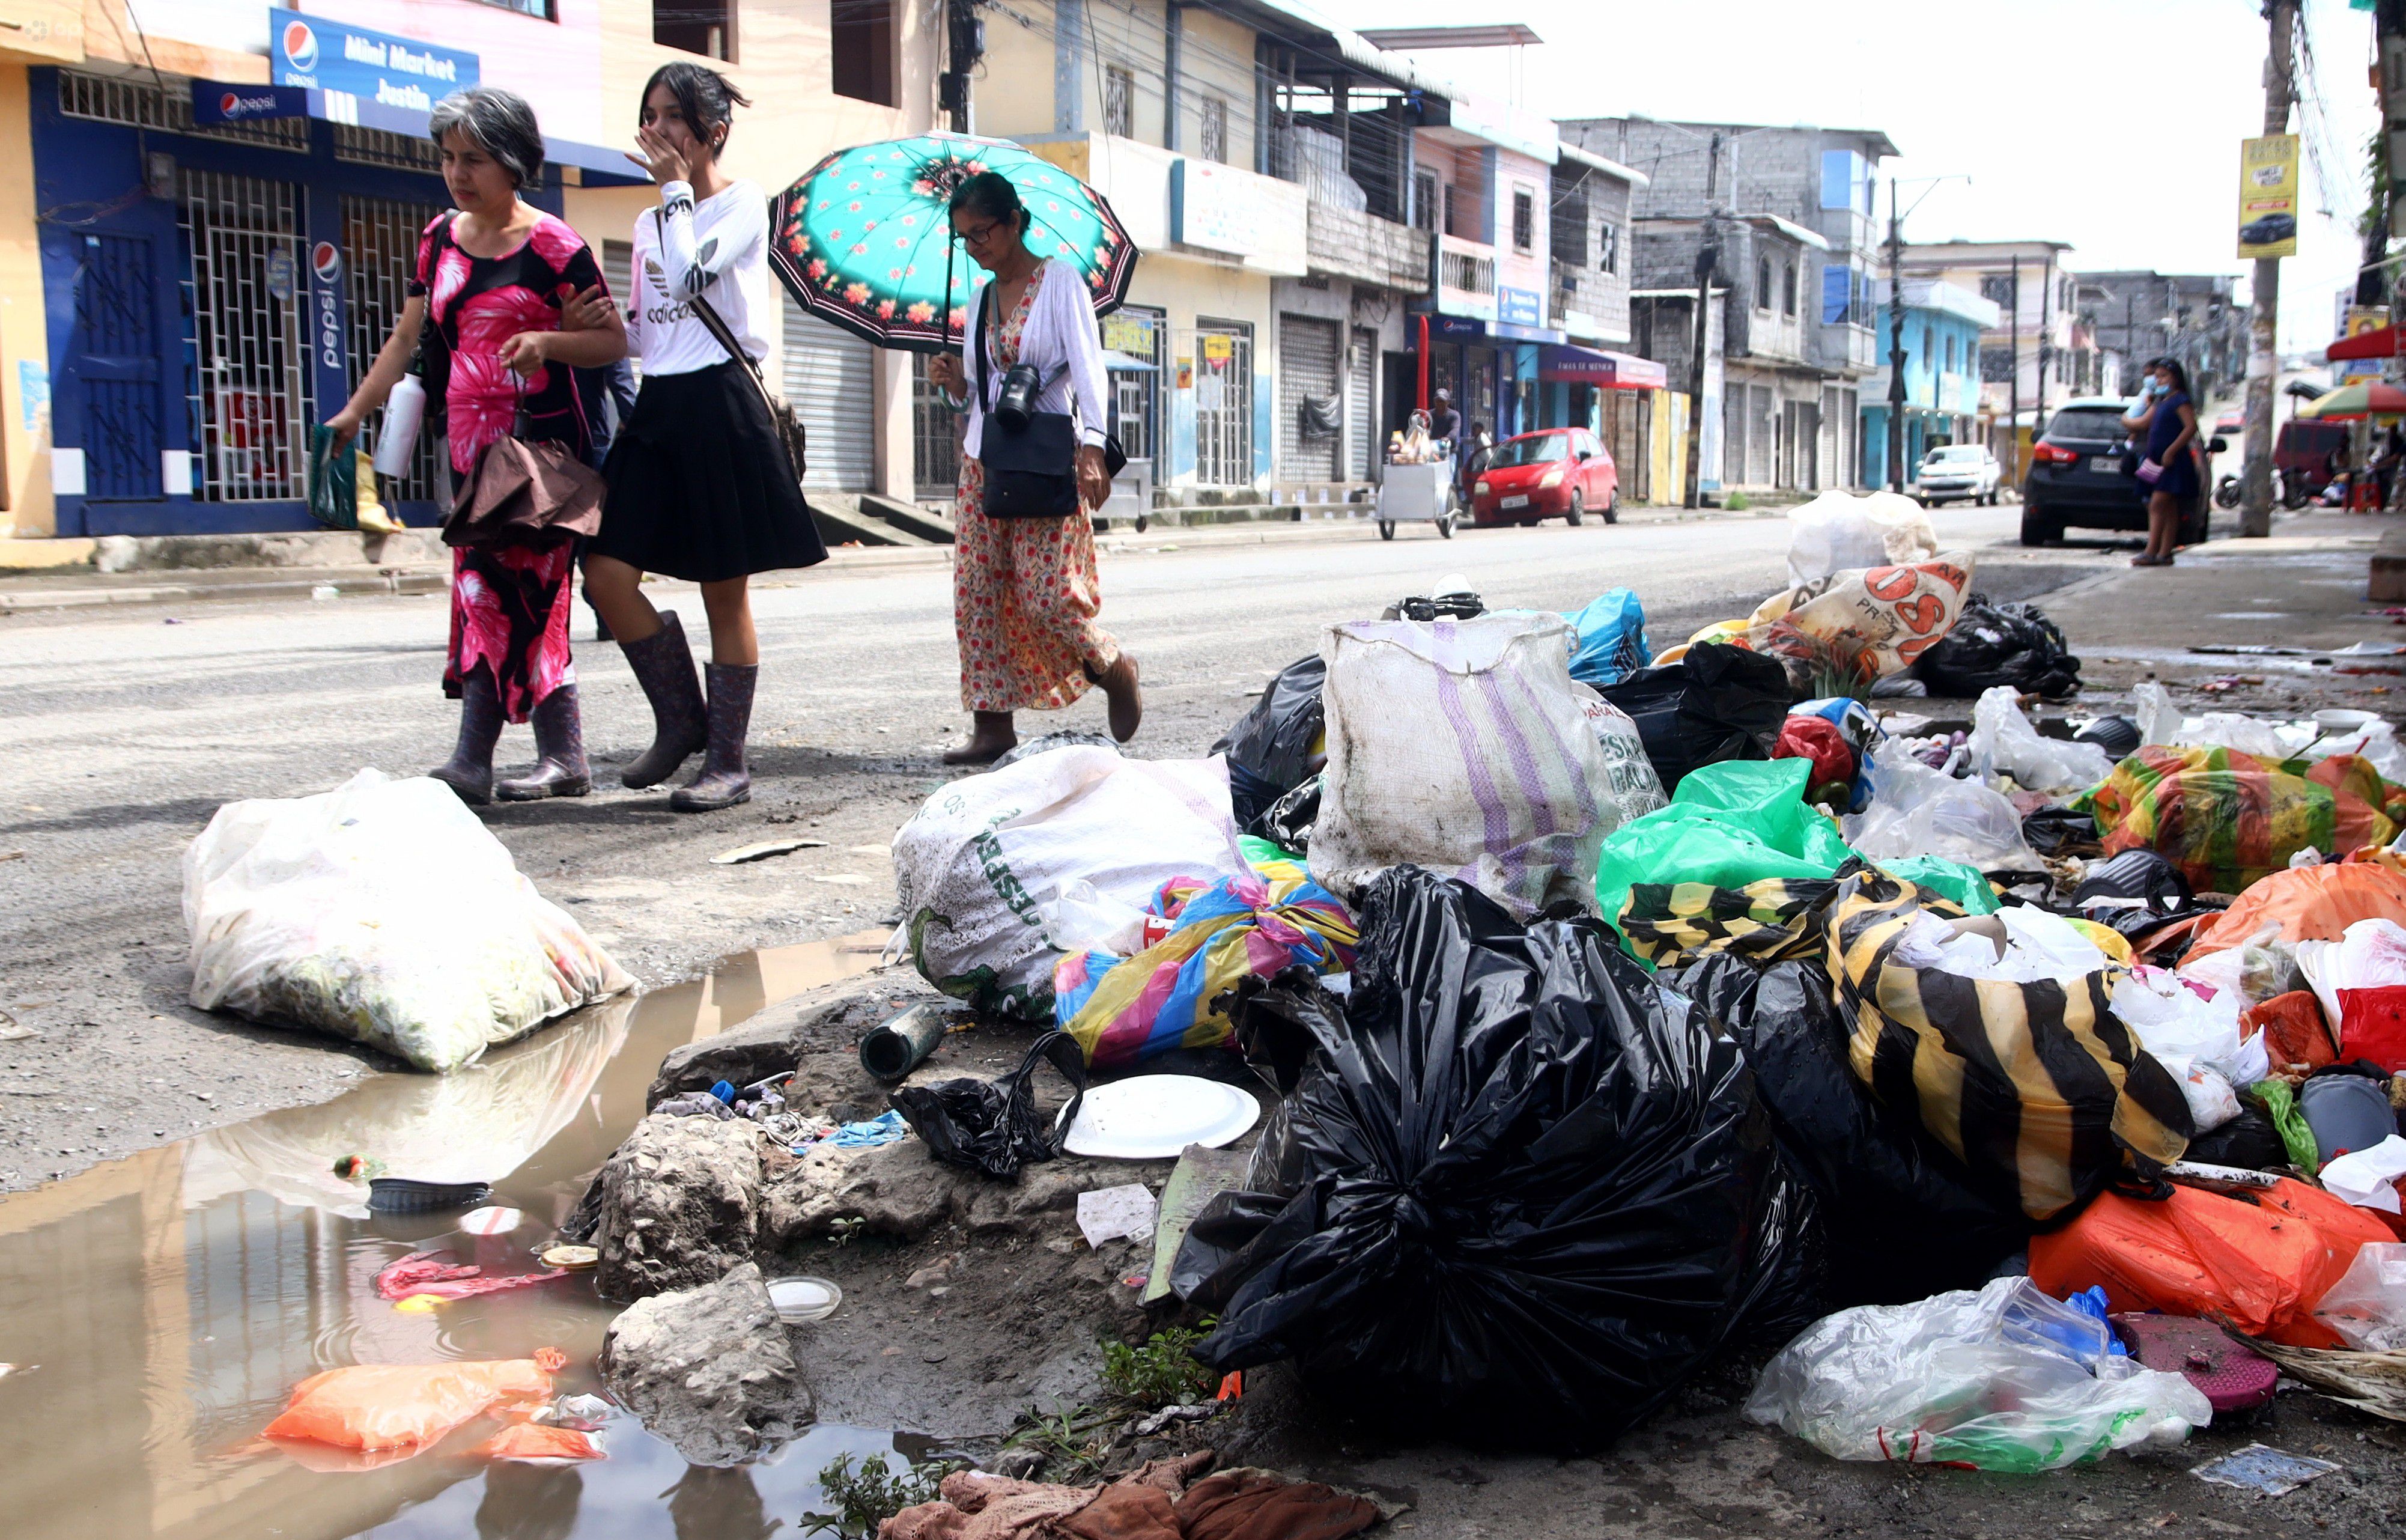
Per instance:
[[[503,257],[472,257],[450,238],[438,217],[419,236],[416,277],[409,294],[426,296],[426,320],[443,334],[450,351],[452,476],[464,479],[476,464],[476,450],[510,433],[520,397],[527,407],[527,438],[568,445],[577,460],[592,455],[592,411],[577,390],[575,371],[546,363],[520,380],[503,368],[500,344],[520,332],[553,332],[561,303],[602,284],[602,265],[585,241],[561,219],[544,214],[534,233]],[[500,710],[510,722],[525,722],[534,703],[575,683],[568,659],[568,611],[575,551],[568,544],[527,546],[455,546],[452,549],[452,635],[443,664],[443,693],[460,698],[462,681],[476,669],[491,669],[500,691]]]

